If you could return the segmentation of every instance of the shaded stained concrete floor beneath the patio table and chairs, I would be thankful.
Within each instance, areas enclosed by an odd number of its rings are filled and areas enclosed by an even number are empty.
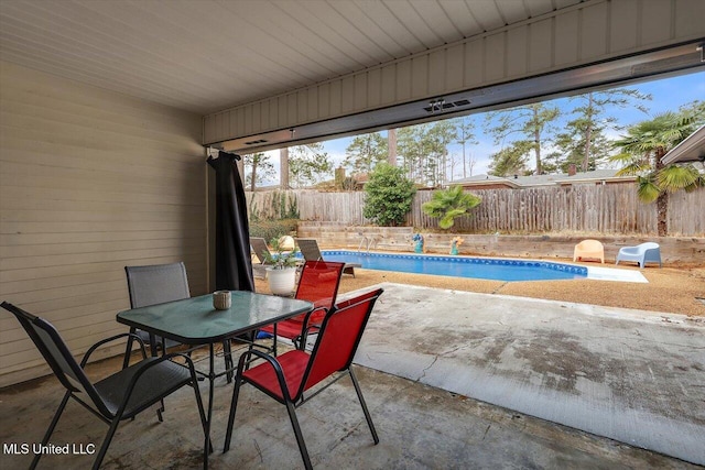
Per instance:
[[[384,303],[389,307],[394,303],[392,289],[388,288],[387,295]],[[509,304],[502,304],[503,300],[495,296],[492,308],[497,311],[510,308]],[[438,304],[438,308],[445,307]],[[383,311],[384,308],[380,308],[375,320],[389,321]],[[373,351],[372,347],[379,340],[376,331],[384,327],[379,323],[375,326],[372,321],[358,359],[360,354]],[[438,338],[441,343],[435,347],[443,347],[444,336]],[[388,342],[393,345],[391,340]],[[379,349],[376,353],[382,354]],[[586,362],[592,359],[586,358]],[[88,371],[91,376],[99,378],[119,369],[120,363],[121,358],[113,358],[90,364]],[[420,362],[417,365],[423,369],[424,364]],[[409,380],[360,365],[355,370],[380,444],[373,445],[352,385],[349,379],[344,378],[299,408],[302,430],[316,468],[699,468],[662,453],[430,386],[416,380],[419,378]],[[463,372],[455,371],[454,374],[462,375]],[[207,384],[202,382],[200,387],[205,395]],[[302,468],[285,408],[250,386],[241,391],[232,445],[227,453],[223,453],[231,392],[232,386],[225,379],[216,382],[212,429],[215,451],[209,459],[210,468]],[[3,447],[13,442],[31,445],[40,441],[62,393],[53,376],[0,390],[0,440]],[[88,444],[99,446],[106,430],[106,425],[72,403],[52,441],[56,445],[83,445],[84,448]],[[133,422],[124,422],[118,428],[104,468],[198,468],[202,466],[202,439],[193,392],[183,389],[167,400],[164,423],[159,423],[151,411]],[[26,468],[30,461],[31,456],[25,455],[3,451],[0,456],[1,468]],[[42,458],[40,468],[84,469],[91,461],[90,456],[51,455]]]

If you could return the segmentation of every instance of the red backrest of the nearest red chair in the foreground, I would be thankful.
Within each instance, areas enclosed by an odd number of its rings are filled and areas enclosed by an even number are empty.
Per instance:
[[[318,331],[297,397],[330,374],[350,367],[372,307],[382,292],[378,288],[365,293],[347,300],[344,307],[328,311]]]

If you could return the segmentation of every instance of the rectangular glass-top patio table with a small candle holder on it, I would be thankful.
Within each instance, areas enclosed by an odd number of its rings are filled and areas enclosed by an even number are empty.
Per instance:
[[[227,310],[216,310],[213,306],[213,295],[207,294],[132,308],[117,315],[118,323],[156,336],[185,345],[208,345],[210,357],[207,376],[210,386],[206,416],[206,448],[210,447],[214,381],[227,372],[215,373],[214,345],[313,309],[311,302],[289,297],[247,291],[232,291],[230,295],[232,305]],[[207,461],[205,464],[207,466]]]

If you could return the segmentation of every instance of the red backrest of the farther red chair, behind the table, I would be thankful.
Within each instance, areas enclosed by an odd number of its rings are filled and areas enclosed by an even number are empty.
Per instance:
[[[325,307],[330,310],[338,295],[338,286],[343,276],[345,263],[333,261],[306,261],[301,272],[296,298],[313,302],[314,308]],[[308,323],[321,323],[325,311],[314,313]],[[303,321],[305,315],[295,317]]]

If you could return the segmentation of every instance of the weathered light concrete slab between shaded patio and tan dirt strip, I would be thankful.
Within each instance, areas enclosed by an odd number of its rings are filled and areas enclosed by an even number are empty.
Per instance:
[[[705,464],[705,323],[567,302],[379,286],[384,294],[356,363]]]

